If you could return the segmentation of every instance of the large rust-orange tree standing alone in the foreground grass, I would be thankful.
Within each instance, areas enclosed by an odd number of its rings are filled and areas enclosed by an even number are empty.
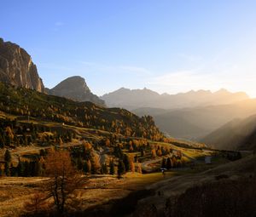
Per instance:
[[[50,178],[49,183],[44,186],[44,191],[54,198],[56,210],[63,214],[67,199],[81,185],[81,175],[73,167],[67,151],[50,151],[44,163],[45,174]]]

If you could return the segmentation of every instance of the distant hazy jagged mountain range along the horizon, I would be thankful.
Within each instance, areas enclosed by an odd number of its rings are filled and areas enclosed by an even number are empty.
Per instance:
[[[231,104],[240,100],[247,100],[245,93],[230,93],[220,89],[212,93],[207,90],[191,90],[183,94],[158,94],[150,89],[118,89],[109,94],[104,94],[109,107],[123,107],[134,110],[142,107],[174,109],[195,106],[212,106]]]

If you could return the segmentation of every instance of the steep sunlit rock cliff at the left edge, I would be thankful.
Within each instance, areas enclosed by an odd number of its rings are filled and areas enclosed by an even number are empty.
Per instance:
[[[44,93],[44,84],[38,76],[32,58],[15,43],[3,42],[0,38],[0,82],[16,87],[35,89]]]

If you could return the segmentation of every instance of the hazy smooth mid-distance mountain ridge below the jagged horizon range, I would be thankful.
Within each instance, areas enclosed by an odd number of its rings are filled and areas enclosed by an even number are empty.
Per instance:
[[[139,116],[152,115],[160,130],[172,137],[201,140],[234,118],[245,118],[256,114],[256,100],[242,100],[230,105],[177,110],[141,108],[132,112]]]

